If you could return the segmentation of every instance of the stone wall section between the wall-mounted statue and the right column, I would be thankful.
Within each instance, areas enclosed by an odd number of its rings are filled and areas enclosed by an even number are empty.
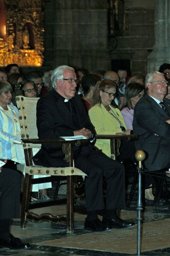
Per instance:
[[[147,56],[154,46],[154,0],[125,1],[125,28],[110,58],[130,60],[132,76],[146,75]]]

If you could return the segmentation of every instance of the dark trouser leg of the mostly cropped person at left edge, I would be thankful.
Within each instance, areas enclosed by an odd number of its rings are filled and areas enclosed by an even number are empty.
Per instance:
[[[0,220],[20,217],[21,174],[2,168],[0,172]]]

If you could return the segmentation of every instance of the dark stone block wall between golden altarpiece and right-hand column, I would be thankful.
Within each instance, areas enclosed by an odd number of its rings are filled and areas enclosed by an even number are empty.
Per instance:
[[[129,60],[132,75],[146,74],[147,56],[154,46],[154,0],[126,0],[125,14],[126,30],[114,39],[117,46],[109,52],[107,0],[47,2],[44,64],[92,71],[110,69],[112,60]]]

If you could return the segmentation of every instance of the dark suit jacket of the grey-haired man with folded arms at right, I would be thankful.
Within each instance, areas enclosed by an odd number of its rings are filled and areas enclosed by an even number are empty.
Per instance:
[[[170,100],[164,98],[170,115]],[[137,102],[134,110],[133,133],[139,135],[135,141],[137,150],[146,153],[145,166],[150,171],[170,167],[170,119],[164,110],[149,95]]]

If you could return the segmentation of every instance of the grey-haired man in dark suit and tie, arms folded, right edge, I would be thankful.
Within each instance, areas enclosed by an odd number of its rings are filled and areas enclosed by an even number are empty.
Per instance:
[[[155,71],[147,74],[145,86],[147,94],[134,111],[133,133],[139,135],[135,146],[145,151],[145,167],[149,171],[163,170],[170,167],[170,100],[164,98],[167,81]]]

